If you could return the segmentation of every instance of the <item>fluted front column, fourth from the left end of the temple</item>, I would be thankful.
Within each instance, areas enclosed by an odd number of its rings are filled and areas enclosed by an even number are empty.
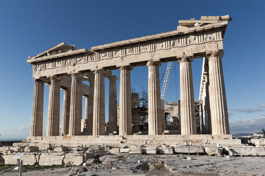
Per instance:
[[[105,135],[105,71],[96,70],[94,73],[93,135]]]

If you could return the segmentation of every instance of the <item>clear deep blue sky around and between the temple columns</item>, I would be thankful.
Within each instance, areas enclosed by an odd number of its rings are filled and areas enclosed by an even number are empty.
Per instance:
[[[230,130],[259,132],[265,128],[264,7],[264,0],[1,0],[0,140],[29,135],[34,84],[28,55],[61,42],[90,49],[176,30],[179,20],[223,15],[233,18],[226,30],[222,59]],[[160,76],[165,66],[160,67]],[[201,67],[202,59],[194,59],[195,99],[199,96]],[[120,77],[119,70],[113,74]],[[134,67],[131,85],[135,91],[142,87],[148,90],[147,66]],[[117,88],[119,92],[119,80]],[[48,93],[45,86],[44,128]],[[106,79],[106,120],[107,97]],[[179,97],[179,65],[174,63],[166,101]]]

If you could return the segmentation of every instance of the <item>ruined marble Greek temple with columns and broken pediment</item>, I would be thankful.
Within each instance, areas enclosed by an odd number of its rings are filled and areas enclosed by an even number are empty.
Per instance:
[[[222,57],[223,38],[231,20],[228,15],[202,16],[201,20],[180,20],[177,30],[170,32],[93,46],[90,50],[61,43],[29,56],[27,63],[33,67],[34,79],[30,136],[43,135],[44,83],[50,88],[47,136],[106,135],[105,78],[109,79],[108,131],[132,135],[130,72],[135,66],[148,68],[148,135],[163,134],[159,66],[169,61],[177,61],[180,66],[180,133],[197,134],[191,69],[194,59],[203,59],[200,101],[202,121],[207,120],[204,126],[208,134],[229,134]],[[111,71],[115,69],[120,70],[119,106],[118,77]],[[60,89],[64,92],[61,133]]]

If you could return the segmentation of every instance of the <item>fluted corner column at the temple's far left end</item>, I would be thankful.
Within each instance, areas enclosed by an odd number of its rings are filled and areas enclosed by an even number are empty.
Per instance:
[[[30,136],[42,136],[43,90],[44,90],[43,82],[40,80],[34,80]]]

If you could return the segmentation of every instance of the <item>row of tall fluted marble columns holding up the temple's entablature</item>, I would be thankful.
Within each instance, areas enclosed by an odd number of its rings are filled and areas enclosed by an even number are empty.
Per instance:
[[[223,51],[209,53],[209,96],[211,109],[212,134],[229,134],[228,113],[225,96],[224,78],[221,58]],[[194,93],[190,57],[178,60],[180,64],[181,91],[181,133],[196,134]],[[162,134],[162,110],[160,100],[159,61],[150,60],[148,66],[148,128],[149,135]],[[132,134],[132,103],[131,76],[132,66],[122,66],[120,69],[120,108],[119,134]],[[89,97],[86,98],[86,124],[93,124],[93,128],[86,130],[93,135],[105,135],[105,71],[94,71],[95,79],[89,83]],[[62,133],[80,135],[81,132],[81,81],[79,74],[72,74],[71,94],[64,89],[64,106]],[[109,88],[109,131],[117,130],[116,110],[116,76],[110,76]],[[49,92],[49,107],[47,119],[47,136],[59,135],[59,78],[51,77]],[[88,99],[90,101],[88,101]],[[93,101],[91,101],[93,99]],[[69,101],[70,100],[70,101]],[[70,103],[69,103],[70,102]],[[70,107],[70,108],[69,108]],[[70,111],[69,111],[70,109]],[[92,111],[93,110],[93,111]],[[69,114],[69,115],[68,115]],[[93,114],[93,119],[92,119]],[[43,82],[35,80],[31,136],[42,135],[43,121]],[[69,121],[69,124],[67,123]]]

